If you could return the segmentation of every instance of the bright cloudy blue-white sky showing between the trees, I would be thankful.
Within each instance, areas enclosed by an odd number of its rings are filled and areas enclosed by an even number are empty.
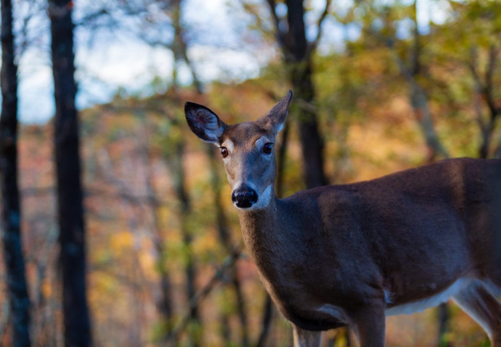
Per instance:
[[[377,4],[392,5],[395,1],[377,0]],[[413,1],[403,0],[400,4],[410,6]],[[139,3],[127,4],[136,6]],[[183,5],[182,22],[188,26],[188,36],[185,38],[189,44],[188,55],[197,76],[204,83],[254,78],[264,65],[276,57],[276,49],[265,41],[260,41],[258,36],[242,36],[242,33],[248,32],[247,23],[252,18],[235,16],[228,4],[241,6],[237,0],[187,0]],[[158,7],[158,4],[152,6]],[[332,3],[331,11],[343,18],[353,6],[353,0],[339,0]],[[43,123],[54,115],[50,23],[46,7],[47,3],[43,0],[16,2],[15,28],[23,33],[16,38],[20,57],[19,117],[26,123]],[[75,22],[87,24],[77,26],[75,31],[75,77],[79,86],[76,103],[79,109],[109,102],[119,88],[129,95],[159,92],[162,88],[158,85],[153,87],[152,81],[163,79],[167,85],[172,79],[174,61],[171,52],[159,46],[149,46],[140,40],[146,27],[138,18],[128,15],[124,7],[111,9],[109,16],[97,16],[90,22],[87,20],[86,16],[99,13],[101,7],[100,2],[75,2]],[[309,9],[312,11],[305,17],[309,40],[314,40],[317,36],[316,24],[324,7],[325,0],[309,2]],[[422,35],[429,31],[430,21],[443,23],[450,11],[450,5],[445,0],[417,0],[417,8],[418,28]],[[268,16],[266,7],[261,6],[260,9],[263,11],[260,16]],[[161,30],[149,30],[148,38],[170,43],[173,31],[168,17],[163,15],[160,8],[150,10],[150,15],[160,22],[158,28]],[[279,17],[287,16],[285,4],[279,3],[275,10]],[[356,19],[362,20],[366,14],[359,7],[354,15]],[[30,21],[25,21],[28,17]],[[397,24],[399,38],[409,35],[412,30],[410,22],[412,21],[402,20]],[[287,21],[283,21],[283,25],[287,25]],[[381,29],[382,22],[376,19],[372,27],[374,30]],[[318,46],[320,54],[341,52],[346,41],[357,40],[361,35],[360,24],[353,22],[342,25],[333,16],[326,18],[321,30],[322,39]],[[177,82],[181,85],[191,83],[188,67],[178,64],[177,68]]]

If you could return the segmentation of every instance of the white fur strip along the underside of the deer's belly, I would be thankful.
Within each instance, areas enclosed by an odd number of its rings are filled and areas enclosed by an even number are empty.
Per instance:
[[[412,314],[414,312],[422,312],[426,308],[434,307],[441,304],[442,302],[446,302],[451,296],[465,288],[471,281],[472,280],[470,278],[459,278],[448,288],[438,294],[419,301],[414,301],[388,308],[384,313],[386,316],[390,316],[396,314]],[[385,293],[385,300],[387,301],[387,303],[391,302],[391,294],[386,295]]]

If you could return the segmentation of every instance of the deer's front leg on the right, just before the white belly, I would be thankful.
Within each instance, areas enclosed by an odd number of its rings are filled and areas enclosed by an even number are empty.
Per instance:
[[[386,318],[383,307],[367,307],[353,317],[360,347],[384,347]]]

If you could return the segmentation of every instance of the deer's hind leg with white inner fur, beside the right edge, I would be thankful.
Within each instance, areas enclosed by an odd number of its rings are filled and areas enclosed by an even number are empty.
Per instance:
[[[478,280],[452,299],[485,330],[492,347],[501,347],[501,303]]]

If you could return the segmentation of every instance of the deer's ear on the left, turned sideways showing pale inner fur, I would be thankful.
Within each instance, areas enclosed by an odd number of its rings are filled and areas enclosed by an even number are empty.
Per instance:
[[[207,107],[187,102],[184,104],[186,121],[195,135],[205,142],[219,144],[219,137],[226,128],[219,117]]]

